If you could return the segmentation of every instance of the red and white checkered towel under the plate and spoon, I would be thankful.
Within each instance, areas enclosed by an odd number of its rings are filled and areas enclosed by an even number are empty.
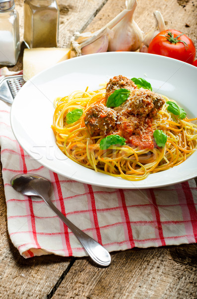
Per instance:
[[[10,239],[25,257],[86,256],[78,240],[39,198],[17,193],[10,179],[36,173],[51,180],[53,203],[109,252],[197,243],[195,180],[158,189],[109,189],[76,182],[31,159],[15,140],[10,106],[0,101],[0,146]]]

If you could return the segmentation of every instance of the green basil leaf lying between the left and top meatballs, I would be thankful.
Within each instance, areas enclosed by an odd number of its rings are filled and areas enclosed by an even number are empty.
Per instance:
[[[129,95],[130,95],[130,90],[128,90],[126,88],[117,89],[107,99],[106,106],[108,108],[109,107],[119,107],[121,104],[123,104],[125,101],[127,101]]]

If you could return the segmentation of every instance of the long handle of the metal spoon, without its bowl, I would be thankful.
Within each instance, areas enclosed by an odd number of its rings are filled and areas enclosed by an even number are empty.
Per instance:
[[[47,205],[58,215],[58,217],[67,225],[67,227],[73,232],[76,238],[79,240],[90,258],[99,266],[109,266],[111,263],[111,256],[109,252],[97,241],[89,237],[82,232],[72,222],[70,222],[65,215],[52,203],[48,195],[42,196]]]

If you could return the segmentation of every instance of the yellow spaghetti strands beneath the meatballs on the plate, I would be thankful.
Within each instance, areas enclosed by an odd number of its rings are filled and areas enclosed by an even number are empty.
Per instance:
[[[167,136],[163,148],[155,143],[152,148],[144,148],[127,142],[123,146],[110,145],[107,149],[100,149],[101,140],[109,133],[102,132],[96,136],[91,134],[85,124],[85,116],[95,105],[106,106],[105,88],[96,91],[74,91],[64,98],[55,100],[52,129],[57,145],[76,163],[127,180],[142,180],[150,173],[179,165],[196,149],[197,125],[193,121],[197,118],[178,118],[168,111],[166,104],[168,101],[175,101],[163,95],[162,99],[162,108],[151,116],[151,130],[162,130]],[[82,111],[82,116],[68,124],[66,115],[74,109]],[[100,114],[100,117],[105,115]]]

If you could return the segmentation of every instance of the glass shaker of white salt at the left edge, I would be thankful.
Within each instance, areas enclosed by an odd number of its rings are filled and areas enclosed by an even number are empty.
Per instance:
[[[19,16],[15,2],[0,0],[0,64],[16,64],[19,53]]]

